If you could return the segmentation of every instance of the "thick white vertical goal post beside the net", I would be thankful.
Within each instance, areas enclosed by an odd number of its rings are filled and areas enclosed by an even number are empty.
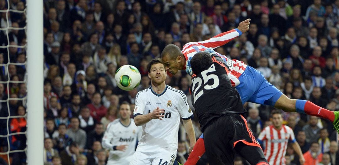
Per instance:
[[[27,163],[43,164],[43,0],[27,0]]]

